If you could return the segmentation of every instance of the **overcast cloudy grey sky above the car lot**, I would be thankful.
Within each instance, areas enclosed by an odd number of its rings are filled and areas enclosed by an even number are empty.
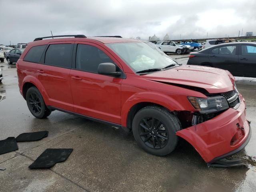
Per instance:
[[[248,0],[0,0],[0,44],[84,34],[171,39],[256,34],[256,1]]]

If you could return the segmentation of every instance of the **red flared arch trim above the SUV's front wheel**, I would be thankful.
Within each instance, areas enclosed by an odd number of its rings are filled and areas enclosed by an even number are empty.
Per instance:
[[[142,92],[136,93],[130,96],[126,101],[122,101],[122,109],[121,109],[121,124],[122,126],[127,126],[127,118],[128,112],[130,109],[141,102],[150,102],[153,104],[161,105],[167,108],[170,111],[174,110],[185,110],[184,106],[178,103],[174,98],[162,93],[157,92]]]

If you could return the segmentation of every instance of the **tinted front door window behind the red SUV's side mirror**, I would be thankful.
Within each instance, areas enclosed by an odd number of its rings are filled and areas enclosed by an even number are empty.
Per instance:
[[[85,44],[78,44],[76,51],[76,68],[98,73],[101,63],[114,63],[102,50]]]

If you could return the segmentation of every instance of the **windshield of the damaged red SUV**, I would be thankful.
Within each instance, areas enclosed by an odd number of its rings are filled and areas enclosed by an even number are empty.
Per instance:
[[[149,46],[144,42],[107,44],[107,46],[118,54],[134,72],[154,68],[162,69],[171,64],[177,64],[177,62],[153,45]]]

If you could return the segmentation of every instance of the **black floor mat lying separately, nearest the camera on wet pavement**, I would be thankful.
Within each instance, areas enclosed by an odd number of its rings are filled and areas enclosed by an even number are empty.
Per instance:
[[[65,161],[72,151],[73,149],[46,149],[29,168],[49,168]]]

